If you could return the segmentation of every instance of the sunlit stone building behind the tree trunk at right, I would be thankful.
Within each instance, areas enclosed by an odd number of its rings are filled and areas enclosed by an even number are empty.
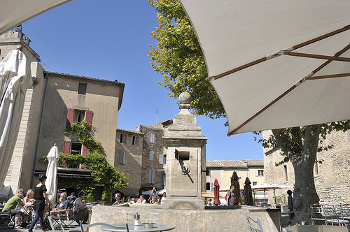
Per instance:
[[[267,138],[271,131],[264,131]],[[314,180],[318,197],[321,204],[338,205],[350,204],[350,132],[333,131],[326,136],[323,146],[334,145],[328,151],[319,152],[314,166]],[[275,166],[283,160],[281,150],[264,149],[265,181],[268,184],[277,183],[294,186],[295,177],[293,165],[288,162]],[[269,200],[273,200],[273,193],[269,192]],[[276,196],[286,198],[283,189],[276,189]]]

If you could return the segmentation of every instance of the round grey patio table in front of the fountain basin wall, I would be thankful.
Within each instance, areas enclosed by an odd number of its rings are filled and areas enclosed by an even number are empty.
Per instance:
[[[127,228],[124,223],[122,224],[111,224],[112,226],[116,226],[118,228],[111,228],[109,226],[101,226],[100,229],[102,231],[111,231],[111,232],[126,232]],[[129,226],[129,231],[170,231],[172,229],[175,229],[175,226],[169,225],[169,224],[158,224],[155,223],[153,228],[144,228],[144,226],[141,224],[140,226],[134,226],[134,224],[127,224]]]

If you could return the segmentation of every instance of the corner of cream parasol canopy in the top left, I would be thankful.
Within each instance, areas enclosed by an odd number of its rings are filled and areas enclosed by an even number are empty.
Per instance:
[[[71,0],[2,0],[0,8],[0,35],[19,24]]]

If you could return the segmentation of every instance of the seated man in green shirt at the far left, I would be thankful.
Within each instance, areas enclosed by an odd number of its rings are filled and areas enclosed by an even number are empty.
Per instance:
[[[25,202],[23,201],[23,189],[17,189],[16,195],[11,197],[7,202],[6,205],[3,206],[2,212],[10,212],[11,215],[15,215],[15,228],[14,229],[22,229],[18,223],[20,222],[20,217],[22,217],[22,222],[25,222],[24,214],[21,210],[16,210],[16,206],[25,205]]]

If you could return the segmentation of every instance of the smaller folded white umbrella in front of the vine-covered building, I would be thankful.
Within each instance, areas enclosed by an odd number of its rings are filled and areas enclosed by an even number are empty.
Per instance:
[[[56,202],[57,194],[57,164],[59,160],[58,148],[55,145],[51,147],[48,152],[48,168],[46,169],[46,176],[48,179],[45,182],[46,194],[52,203]]]

